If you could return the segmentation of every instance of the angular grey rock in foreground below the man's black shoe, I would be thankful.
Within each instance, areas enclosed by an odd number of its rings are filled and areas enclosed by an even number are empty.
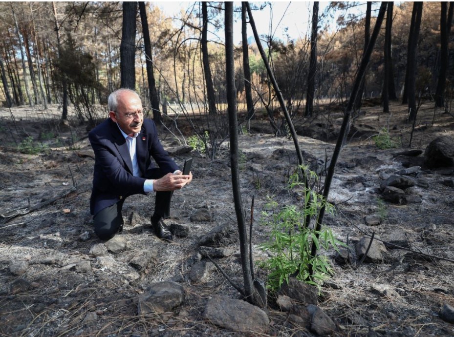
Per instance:
[[[162,314],[171,311],[184,300],[183,286],[171,281],[153,283],[144,294],[139,295],[138,313]]]

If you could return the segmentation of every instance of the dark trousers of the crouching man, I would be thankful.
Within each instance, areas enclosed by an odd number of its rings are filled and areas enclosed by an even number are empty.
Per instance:
[[[173,192],[156,192],[153,221],[169,217],[172,195]],[[111,239],[123,229],[121,210],[125,199],[123,198],[112,206],[102,209],[93,217],[95,233],[101,240]]]

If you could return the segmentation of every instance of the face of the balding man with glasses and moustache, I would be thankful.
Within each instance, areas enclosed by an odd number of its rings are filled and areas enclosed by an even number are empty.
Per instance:
[[[144,121],[142,102],[131,92],[120,93],[117,100],[117,111],[109,111],[109,117],[118,123],[127,135],[140,132]]]

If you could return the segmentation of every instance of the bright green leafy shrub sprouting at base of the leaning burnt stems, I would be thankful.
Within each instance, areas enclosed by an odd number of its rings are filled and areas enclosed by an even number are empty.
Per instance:
[[[300,166],[299,170],[306,170],[312,178],[317,178],[307,167]],[[320,287],[319,283],[328,278],[333,269],[325,256],[311,256],[312,242],[317,250],[323,248],[326,251],[330,248],[338,250],[337,246],[343,243],[334,238],[331,230],[326,227],[317,232],[306,226],[306,217],[315,216],[322,205],[325,206],[326,212],[333,214],[334,207],[323,201],[323,196],[303,186],[298,172],[291,176],[289,187],[303,188],[303,207],[300,210],[296,205],[291,205],[277,211],[278,204],[274,200],[266,205],[266,208],[273,209],[273,212],[262,213],[262,224],[271,227],[271,233],[269,240],[260,248],[271,257],[260,265],[270,272],[268,287],[272,290],[279,289],[284,280],[288,282],[289,275],[295,275],[303,282]],[[312,266],[312,276],[309,275],[309,266]]]

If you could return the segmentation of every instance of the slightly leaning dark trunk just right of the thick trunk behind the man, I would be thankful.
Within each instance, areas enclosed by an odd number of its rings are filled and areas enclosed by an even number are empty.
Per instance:
[[[151,59],[150,32],[148,29],[147,10],[145,2],[139,2],[140,19],[142,21],[142,32],[144,35],[145,57],[147,65],[148,89],[150,91],[151,108],[153,109],[153,119],[160,124],[162,121],[161,111],[159,110],[159,98],[156,91],[156,81],[154,80],[153,60]]]

